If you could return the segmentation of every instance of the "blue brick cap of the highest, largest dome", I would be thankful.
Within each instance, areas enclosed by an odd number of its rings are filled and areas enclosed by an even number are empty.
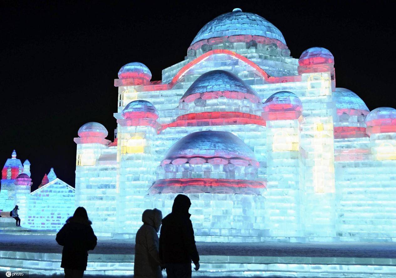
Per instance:
[[[254,13],[243,12],[238,8],[209,21],[198,32],[191,45],[200,40],[236,35],[263,36],[279,40],[286,45],[280,30],[267,19]]]

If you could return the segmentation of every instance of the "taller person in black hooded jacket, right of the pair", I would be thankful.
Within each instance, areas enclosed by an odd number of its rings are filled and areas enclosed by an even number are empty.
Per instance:
[[[160,258],[168,278],[190,278],[191,261],[195,270],[200,267],[191,214],[188,213],[190,206],[190,199],[179,194],[173,201],[172,212],[162,219]]]

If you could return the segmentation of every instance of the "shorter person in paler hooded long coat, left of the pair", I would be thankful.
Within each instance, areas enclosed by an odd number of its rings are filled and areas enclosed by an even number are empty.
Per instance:
[[[162,212],[156,208],[143,212],[144,224],[136,233],[134,278],[162,278],[157,234],[161,220]]]

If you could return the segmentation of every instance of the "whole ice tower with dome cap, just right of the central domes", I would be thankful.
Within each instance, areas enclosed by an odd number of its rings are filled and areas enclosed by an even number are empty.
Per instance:
[[[266,223],[269,236],[303,236],[299,190],[299,127],[301,100],[282,91],[263,104],[267,123]]]

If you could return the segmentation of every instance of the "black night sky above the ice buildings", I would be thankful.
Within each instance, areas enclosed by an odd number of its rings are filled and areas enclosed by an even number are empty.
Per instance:
[[[202,26],[233,8],[277,26],[295,58],[309,47],[329,49],[337,87],[357,93],[370,110],[396,107],[391,1],[139,3],[0,2],[0,166],[15,148],[32,164],[32,189],[51,167],[74,186],[73,138],[84,123],[102,123],[112,140],[121,66],[143,62],[160,80]]]

